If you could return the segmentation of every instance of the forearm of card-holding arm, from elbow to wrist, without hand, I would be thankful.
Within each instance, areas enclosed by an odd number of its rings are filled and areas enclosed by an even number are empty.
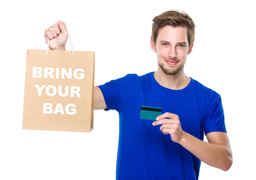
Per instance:
[[[223,171],[232,165],[231,152],[225,145],[204,142],[186,132],[178,143],[207,165]]]

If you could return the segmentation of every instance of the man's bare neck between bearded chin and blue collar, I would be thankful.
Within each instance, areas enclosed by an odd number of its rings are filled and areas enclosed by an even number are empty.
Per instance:
[[[185,75],[183,69],[176,75],[167,75],[160,68],[154,73],[154,78],[161,86],[172,90],[181,90],[185,88],[191,80],[187,75]]]

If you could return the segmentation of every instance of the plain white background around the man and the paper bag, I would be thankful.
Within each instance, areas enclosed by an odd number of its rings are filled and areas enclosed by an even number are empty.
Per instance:
[[[185,73],[221,94],[233,165],[204,163],[199,180],[255,174],[255,13],[253,1],[4,1],[0,58],[0,179],[115,179],[118,114],[96,110],[91,133],[22,130],[26,49],[46,49],[44,29],[64,20],[74,50],[95,51],[95,85],[157,70],[153,17],[181,9],[195,22]],[[69,41],[67,50],[70,50]],[[117,68],[113,67],[115,65]]]

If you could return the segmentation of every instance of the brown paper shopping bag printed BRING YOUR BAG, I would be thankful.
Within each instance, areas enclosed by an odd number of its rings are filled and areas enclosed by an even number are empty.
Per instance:
[[[94,57],[89,51],[27,50],[24,130],[93,130]]]

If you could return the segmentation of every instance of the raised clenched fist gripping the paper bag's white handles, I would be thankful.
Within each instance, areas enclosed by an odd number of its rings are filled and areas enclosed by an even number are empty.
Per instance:
[[[62,20],[59,20],[50,26],[49,29],[45,29],[44,38],[46,43],[49,38],[49,48],[51,50],[65,50],[68,38],[66,24]]]

